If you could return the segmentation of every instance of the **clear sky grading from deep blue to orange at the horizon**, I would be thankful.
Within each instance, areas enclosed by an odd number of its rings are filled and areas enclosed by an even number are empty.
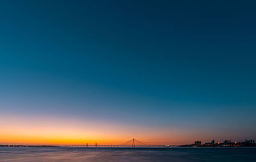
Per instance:
[[[255,139],[254,1],[1,1],[0,144]]]

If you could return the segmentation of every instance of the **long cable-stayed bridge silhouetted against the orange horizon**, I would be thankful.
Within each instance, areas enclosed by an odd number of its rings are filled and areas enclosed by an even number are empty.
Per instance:
[[[132,138],[131,140],[128,140],[127,142],[124,142],[123,144],[117,144],[117,145],[100,145],[100,144],[85,144],[85,145],[60,145],[60,147],[178,147],[179,145],[170,145],[170,144],[145,144],[144,142],[141,142],[140,140],[137,140],[135,138]]]

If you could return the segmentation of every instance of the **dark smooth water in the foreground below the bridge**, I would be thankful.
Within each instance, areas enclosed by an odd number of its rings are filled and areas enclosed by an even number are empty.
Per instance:
[[[0,147],[0,162],[8,161],[256,161],[256,148],[72,148]]]

